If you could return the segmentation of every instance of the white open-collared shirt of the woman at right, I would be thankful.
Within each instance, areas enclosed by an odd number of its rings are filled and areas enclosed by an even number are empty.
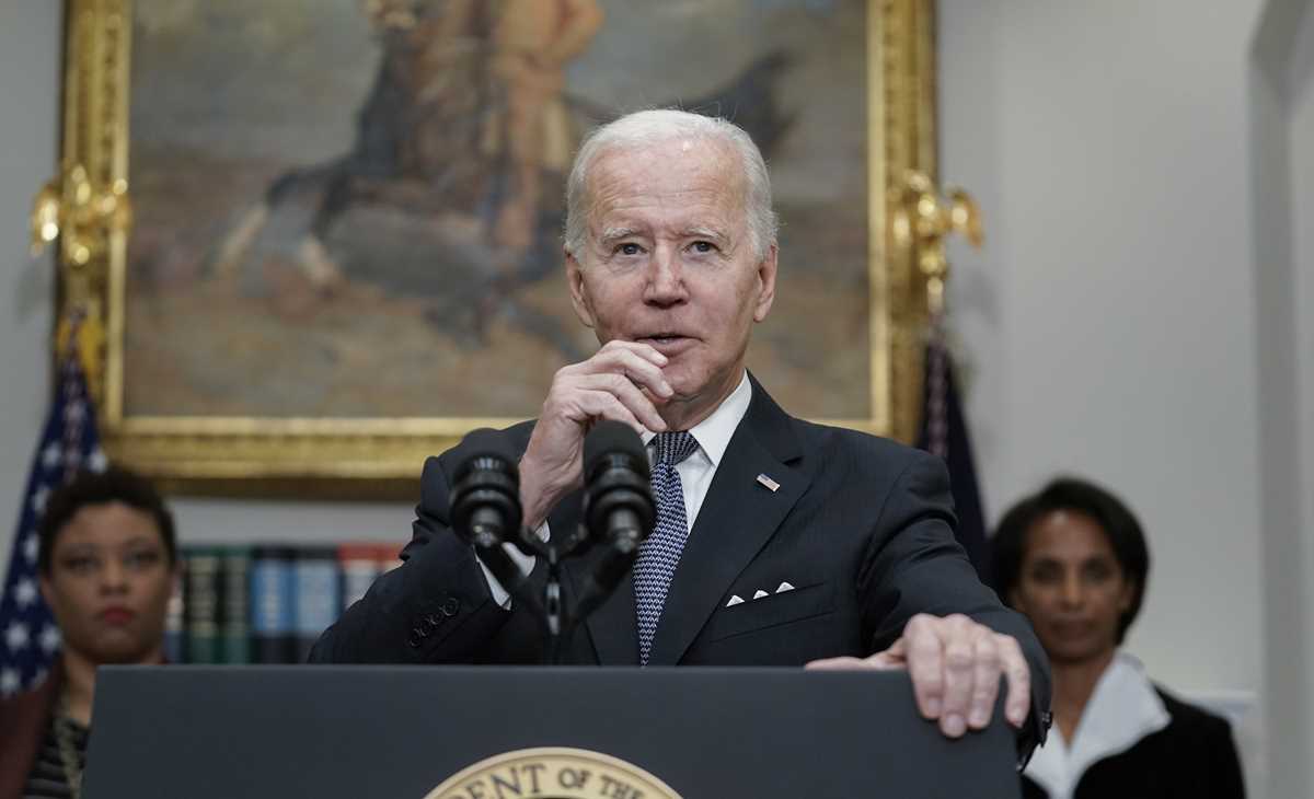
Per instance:
[[[1072,740],[1064,741],[1055,728],[1031,756],[1024,774],[1045,788],[1050,799],[1072,799],[1087,769],[1126,752],[1168,721],[1168,710],[1141,661],[1120,651],[1095,685]]]

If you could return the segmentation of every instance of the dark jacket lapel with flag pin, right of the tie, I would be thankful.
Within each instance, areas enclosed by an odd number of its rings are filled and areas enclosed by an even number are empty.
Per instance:
[[[811,476],[791,465],[802,452],[794,435],[794,421],[756,380],[752,382],[753,401],[716,468],[671,578],[666,606],[653,635],[650,665],[679,662],[698,631],[717,610],[731,583],[771,537],[811,482]],[[779,488],[770,490],[757,481],[758,474],[766,474]],[[635,601],[632,582],[627,583],[629,645],[633,652],[637,648]]]

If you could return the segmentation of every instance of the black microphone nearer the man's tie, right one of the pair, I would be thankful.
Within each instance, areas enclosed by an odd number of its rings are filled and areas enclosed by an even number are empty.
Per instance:
[[[583,619],[611,595],[633,566],[639,544],[653,530],[648,451],[639,434],[620,422],[598,422],[583,440],[583,518],[591,543],[606,552],[579,591],[577,618]]]

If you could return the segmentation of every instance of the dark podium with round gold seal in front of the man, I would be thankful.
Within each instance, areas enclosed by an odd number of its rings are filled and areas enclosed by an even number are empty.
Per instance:
[[[901,672],[104,666],[83,795],[1013,799],[995,716],[946,739]]]

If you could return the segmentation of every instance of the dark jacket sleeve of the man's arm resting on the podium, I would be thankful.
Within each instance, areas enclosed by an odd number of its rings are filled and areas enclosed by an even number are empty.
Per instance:
[[[870,652],[888,648],[920,612],[963,614],[1017,640],[1030,668],[1031,712],[1018,731],[1025,764],[1050,725],[1050,665],[1031,624],[982,583],[954,539],[949,472],[941,459],[911,451],[879,513],[859,576],[863,635]]]

